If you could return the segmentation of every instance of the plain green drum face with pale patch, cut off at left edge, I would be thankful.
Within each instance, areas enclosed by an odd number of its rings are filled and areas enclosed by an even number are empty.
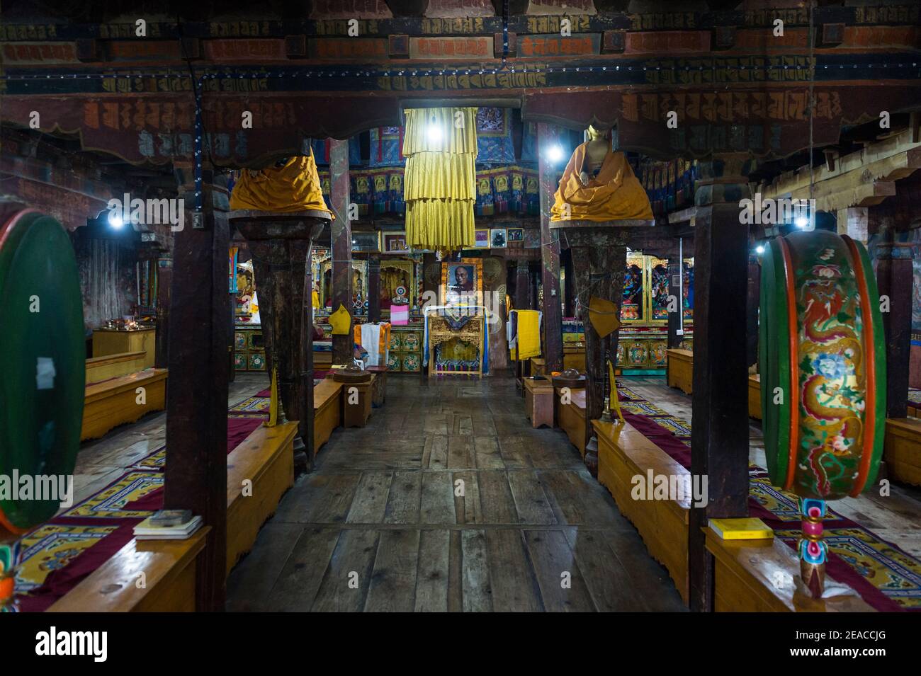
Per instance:
[[[0,354],[9,356],[0,377],[3,540],[58,510],[58,477],[72,475],[76,464],[86,378],[83,298],[70,237],[53,218],[11,210],[9,202],[0,202],[0,299]],[[31,495],[20,490],[24,476]],[[49,477],[41,494],[40,476]]]

